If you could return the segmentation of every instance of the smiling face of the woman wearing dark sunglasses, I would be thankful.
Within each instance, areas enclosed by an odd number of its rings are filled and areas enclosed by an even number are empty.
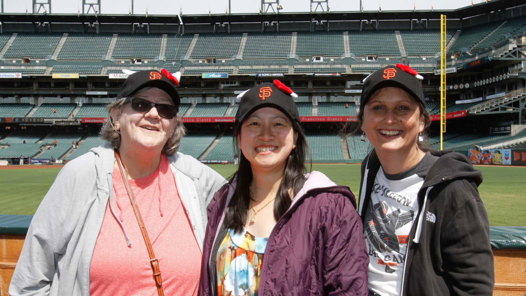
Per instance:
[[[174,105],[168,93],[157,87],[139,91],[134,97],[158,103]],[[159,116],[157,108],[152,107],[147,113],[132,110],[129,102],[125,103],[122,111],[117,108],[112,111],[115,127],[120,131],[120,146],[130,150],[160,152],[174,133],[176,119],[166,119]]]

